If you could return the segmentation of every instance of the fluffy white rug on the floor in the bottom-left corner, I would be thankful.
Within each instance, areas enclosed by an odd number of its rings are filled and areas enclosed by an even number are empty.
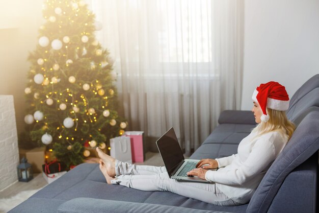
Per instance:
[[[37,190],[28,190],[28,191],[22,191],[16,194],[15,196],[11,198],[2,198],[0,199],[0,213],[6,213],[15,206],[19,205],[29,197],[31,197],[33,194],[41,190],[41,188],[38,188]]]

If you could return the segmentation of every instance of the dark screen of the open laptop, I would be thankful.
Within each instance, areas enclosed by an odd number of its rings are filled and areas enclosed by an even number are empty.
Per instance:
[[[166,170],[171,176],[176,167],[184,160],[174,129],[169,129],[156,141],[156,145],[159,153],[161,153]]]

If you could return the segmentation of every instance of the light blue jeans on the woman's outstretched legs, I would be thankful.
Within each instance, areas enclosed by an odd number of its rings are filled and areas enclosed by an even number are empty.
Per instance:
[[[116,160],[115,173],[116,179],[111,181],[112,184],[120,184],[142,191],[172,192],[215,205],[241,205],[222,193],[215,183],[177,181],[169,178],[165,167],[135,165]]]

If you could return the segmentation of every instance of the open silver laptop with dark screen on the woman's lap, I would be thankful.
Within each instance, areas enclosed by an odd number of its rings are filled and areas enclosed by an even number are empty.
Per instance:
[[[177,180],[209,182],[197,176],[187,176],[189,171],[196,168],[196,164],[200,160],[184,159],[183,152],[179,146],[173,127],[156,141],[156,146],[161,154],[170,178]]]

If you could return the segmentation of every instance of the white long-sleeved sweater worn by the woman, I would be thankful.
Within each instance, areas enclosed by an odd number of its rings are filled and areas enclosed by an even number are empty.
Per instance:
[[[237,154],[216,159],[219,169],[207,171],[205,179],[229,198],[247,203],[253,196],[264,174],[288,141],[286,135],[274,131],[259,137],[251,132],[238,145]]]

